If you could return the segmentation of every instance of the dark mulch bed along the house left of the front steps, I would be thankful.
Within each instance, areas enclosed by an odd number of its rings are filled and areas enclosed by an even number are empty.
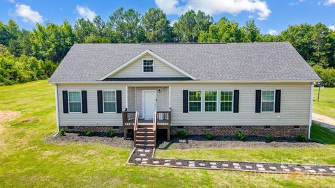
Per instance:
[[[44,141],[56,144],[66,143],[102,143],[113,148],[133,148],[134,142],[131,140],[125,140],[123,136],[118,135],[112,138],[107,136],[84,136],[78,133],[66,133],[65,136],[48,136]]]

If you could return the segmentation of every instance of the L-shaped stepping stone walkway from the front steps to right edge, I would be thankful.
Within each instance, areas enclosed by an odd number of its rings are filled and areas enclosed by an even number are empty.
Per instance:
[[[306,173],[313,175],[335,175],[335,166],[301,165],[264,162],[230,162],[188,159],[155,158],[155,149],[134,148],[127,164],[142,166],[165,166],[187,169],[213,169],[231,171],[251,171],[262,173]]]

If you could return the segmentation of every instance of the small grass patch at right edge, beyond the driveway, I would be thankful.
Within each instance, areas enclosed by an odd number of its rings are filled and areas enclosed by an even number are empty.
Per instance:
[[[313,112],[335,118],[335,88],[320,89],[318,102],[318,88],[314,88]]]

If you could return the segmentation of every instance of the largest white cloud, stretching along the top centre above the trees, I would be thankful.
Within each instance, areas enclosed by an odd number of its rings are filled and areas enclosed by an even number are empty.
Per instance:
[[[180,5],[179,1],[184,3]],[[258,19],[267,19],[271,10],[266,1],[261,0],[155,0],[158,8],[168,15],[181,15],[187,10],[202,10],[210,15],[230,13],[237,15],[243,11],[257,13]]]

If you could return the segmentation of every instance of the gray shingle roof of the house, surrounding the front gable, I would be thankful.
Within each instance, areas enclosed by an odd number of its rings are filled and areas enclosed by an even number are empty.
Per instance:
[[[203,81],[320,80],[289,42],[75,44],[50,81],[97,81],[149,49]]]

